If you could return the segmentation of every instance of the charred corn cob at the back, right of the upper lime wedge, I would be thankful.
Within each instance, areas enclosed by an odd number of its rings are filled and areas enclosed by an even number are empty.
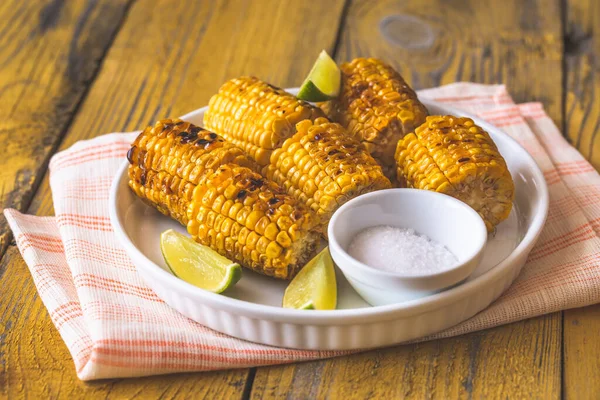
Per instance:
[[[402,76],[382,61],[356,58],[340,68],[340,95],[320,106],[351,134],[360,134],[367,150],[392,178],[398,139],[425,121],[427,109]]]

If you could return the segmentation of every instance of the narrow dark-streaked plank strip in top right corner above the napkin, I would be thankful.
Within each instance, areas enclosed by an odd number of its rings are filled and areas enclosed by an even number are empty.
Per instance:
[[[566,9],[565,134],[600,168],[600,3],[571,0]]]

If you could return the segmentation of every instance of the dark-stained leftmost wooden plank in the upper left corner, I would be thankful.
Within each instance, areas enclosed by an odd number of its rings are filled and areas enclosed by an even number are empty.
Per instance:
[[[0,5],[0,208],[26,209],[129,0]],[[8,242],[0,217],[0,256]]]

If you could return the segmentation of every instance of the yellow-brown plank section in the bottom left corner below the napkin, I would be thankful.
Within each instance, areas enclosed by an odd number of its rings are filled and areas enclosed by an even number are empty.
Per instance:
[[[240,398],[248,370],[84,383],[14,246],[0,290],[0,398]],[[10,284],[9,284],[10,283]]]

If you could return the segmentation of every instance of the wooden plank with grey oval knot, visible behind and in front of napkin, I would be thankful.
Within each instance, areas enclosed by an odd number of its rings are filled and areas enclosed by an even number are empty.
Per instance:
[[[336,59],[358,56],[392,63],[416,88],[504,82],[516,101],[542,101],[562,121],[557,0],[355,0]],[[260,368],[253,396],[557,398],[561,322],[555,313],[454,339]]]

